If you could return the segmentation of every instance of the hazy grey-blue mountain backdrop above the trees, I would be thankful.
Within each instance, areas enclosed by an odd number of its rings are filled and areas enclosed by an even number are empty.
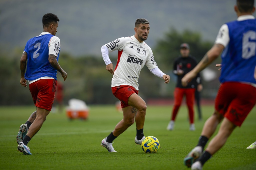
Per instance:
[[[153,49],[170,28],[201,33],[214,42],[222,24],[237,18],[235,0],[1,0],[0,49],[9,54],[24,49],[28,39],[42,32],[42,16],[54,13],[60,19],[61,51],[73,56],[98,55],[101,47],[117,38],[134,35],[137,18],[150,22],[146,43]],[[21,50],[22,53],[22,50]]]

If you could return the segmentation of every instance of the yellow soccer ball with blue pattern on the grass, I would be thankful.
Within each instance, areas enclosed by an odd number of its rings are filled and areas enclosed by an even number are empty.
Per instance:
[[[145,153],[156,153],[160,147],[158,139],[153,136],[148,136],[143,139],[141,148]]]

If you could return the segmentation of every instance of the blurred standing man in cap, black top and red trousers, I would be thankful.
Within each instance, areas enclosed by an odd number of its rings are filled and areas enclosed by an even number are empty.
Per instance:
[[[194,131],[195,130],[195,124],[194,124],[194,100],[195,100],[195,88],[197,84],[199,87],[201,87],[201,80],[200,75],[198,73],[197,77],[195,77],[193,80],[189,82],[189,85],[186,87],[183,87],[181,84],[182,77],[187,74],[189,71],[191,71],[197,64],[196,59],[191,56],[190,53],[190,47],[187,43],[182,43],[180,45],[180,56],[174,61],[173,65],[173,73],[177,75],[177,84],[174,89],[174,106],[172,111],[171,120],[168,123],[167,130],[173,130],[174,129],[174,121],[178,114],[178,110],[180,105],[182,104],[183,96],[186,96],[186,104],[188,107],[188,114],[189,114],[189,121],[190,126],[189,130]],[[196,80],[199,80],[197,83]]]

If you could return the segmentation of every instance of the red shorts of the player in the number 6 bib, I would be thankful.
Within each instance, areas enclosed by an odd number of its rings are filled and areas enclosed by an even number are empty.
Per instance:
[[[241,126],[256,103],[256,88],[238,82],[221,84],[215,99],[215,109],[236,126]]]

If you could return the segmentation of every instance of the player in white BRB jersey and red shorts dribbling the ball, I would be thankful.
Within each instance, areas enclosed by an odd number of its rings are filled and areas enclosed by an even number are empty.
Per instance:
[[[131,37],[118,38],[101,47],[102,57],[106,64],[106,70],[113,74],[112,93],[121,101],[123,119],[115,126],[115,129],[101,141],[101,145],[109,152],[116,152],[112,142],[127,128],[134,120],[136,122],[135,143],[142,143],[145,138],[143,127],[146,115],[146,103],[138,96],[138,79],[144,65],[156,76],[169,83],[170,76],[158,69],[151,48],[144,42],[150,30],[148,20],[137,19],[135,22],[135,35]],[[113,64],[109,59],[109,52],[118,50],[118,60],[113,70]]]

